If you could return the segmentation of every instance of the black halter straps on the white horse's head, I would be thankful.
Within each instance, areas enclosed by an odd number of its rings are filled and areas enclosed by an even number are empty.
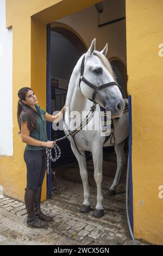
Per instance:
[[[87,84],[87,86],[89,86],[92,89],[94,89],[93,94],[92,94],[92,99],[89,99],[89,100],[91,100],[91,101],[96,103],[96,101],[95,101],[96,94],[101,89],[104,89],[104,88],[109,87],[109,86],[118,86],[118,87],[120,87],[117,82],[110,82],[110,83],[102,84],[101,86],[94,86],[94,84],[92,84],[89,81],[87,81],[86,78],[83,76],[84,75],[84,61],[85,61],[85,55],[84,55],[84,57],[82,59],[82,64],[81,64],[81,68],[80,68],[79,87],[80,87],[80,83],[83,81],[84,83]]]

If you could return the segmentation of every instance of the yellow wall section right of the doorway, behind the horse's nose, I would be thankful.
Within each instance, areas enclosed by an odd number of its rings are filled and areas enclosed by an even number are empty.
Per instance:
[[[127,0],[128,93],[133,115],[134,234],[163,243],[162,0]]]

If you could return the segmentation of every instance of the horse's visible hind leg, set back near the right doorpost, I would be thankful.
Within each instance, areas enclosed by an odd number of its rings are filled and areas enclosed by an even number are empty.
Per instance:
[[[106,193],[108,196],[115,195],[115,188],[120,182],[121,172],[122,172],[124,161],[125,161],[124,144],[125,142],[115,145],[115,153],[117,156],[117,170],[116,170],[114,181],[111,187],[109,188],[108,192]]]

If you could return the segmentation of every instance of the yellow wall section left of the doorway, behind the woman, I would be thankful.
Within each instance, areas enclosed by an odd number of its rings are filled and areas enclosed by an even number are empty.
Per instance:
[[[32,87],[39,105],[46,109],[46,25],[75,11],[97,3],[97,0],[6,0],[7,27],[13,32],[12,121],[13,157],[0,156],[0,181],[8,196],[24,199],[26,165],[23,160],[25,144],[18,136],[17,92]],[[46,199],[46,180],[42,199]]]

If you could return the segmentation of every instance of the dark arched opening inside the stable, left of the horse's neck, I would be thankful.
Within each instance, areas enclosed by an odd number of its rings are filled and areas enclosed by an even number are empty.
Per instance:
[[[67,87],[73,68],[86,51],[85,42],[72,28],[59,22],[51,24],[51,114],[54,111],[60,111],[65,105]],[[65,136],[64,131],[54,130],[53,126],[51,127],[52,140],[63,136]],[[68,139],[60,141],[59,147],[62,154],[55,162],[55,167],[76,161]]]

